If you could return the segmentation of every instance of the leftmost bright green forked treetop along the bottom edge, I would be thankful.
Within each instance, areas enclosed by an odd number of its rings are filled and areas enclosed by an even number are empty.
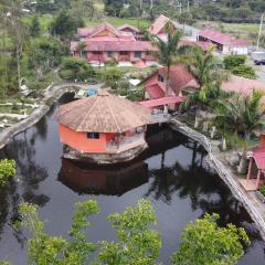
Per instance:
[[[88,200],[75,205],[73,223],[68,232],[70,240],[50,236],[44,232],[44,223],[40,220],[36,206],[22,203],[20,212],[21,225],[28,229],[32,237],[29,240],[29,258],[36,265],[86,264],[91,253],[96,248],[87,242],[84,230],[89,226],[87,218],[99,211],[95,201]]]

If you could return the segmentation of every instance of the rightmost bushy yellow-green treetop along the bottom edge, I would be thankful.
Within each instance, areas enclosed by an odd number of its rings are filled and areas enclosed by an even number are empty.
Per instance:
[[[218,226],[218,214],[205,214],[186,226],[179,251],[172,264],[181,265],[233,265],[244,254],[243,243],[250,240],[243,229],[233,224]]]

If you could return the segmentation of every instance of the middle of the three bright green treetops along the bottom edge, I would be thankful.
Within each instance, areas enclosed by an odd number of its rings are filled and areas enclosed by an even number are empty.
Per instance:
[[[158,264],[156,259],[161,239],[157,231],[149,229],[156,223],[155,211],[149,201],[140,200],[136,208],[127,208],[121,214],[110,214],[108,220],[117,230],[118,242],[103,241],[96,264]]]

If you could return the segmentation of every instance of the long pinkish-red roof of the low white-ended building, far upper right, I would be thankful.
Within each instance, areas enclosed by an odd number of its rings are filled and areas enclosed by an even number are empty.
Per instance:
[[[211,40],[213,42],[223,44],[223,45],[232,45],[232,46],[245,46],[247,45],[246,40],[235,40],[230,35],[223,34],[222,32],[212,30],[212,29],[205,29],[199,32],[199,36],[205,38],[208,40]]]

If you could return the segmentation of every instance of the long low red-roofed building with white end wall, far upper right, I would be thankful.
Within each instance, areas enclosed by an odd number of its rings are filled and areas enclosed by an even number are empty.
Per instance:
[[[239,54],[246,55],[248,53],[247,41],[233,39],[227,34],[222,32],[205,29],[199,32],[198,41],[200,42],[211,42],[216,45],[218,50],[223,54]]]

